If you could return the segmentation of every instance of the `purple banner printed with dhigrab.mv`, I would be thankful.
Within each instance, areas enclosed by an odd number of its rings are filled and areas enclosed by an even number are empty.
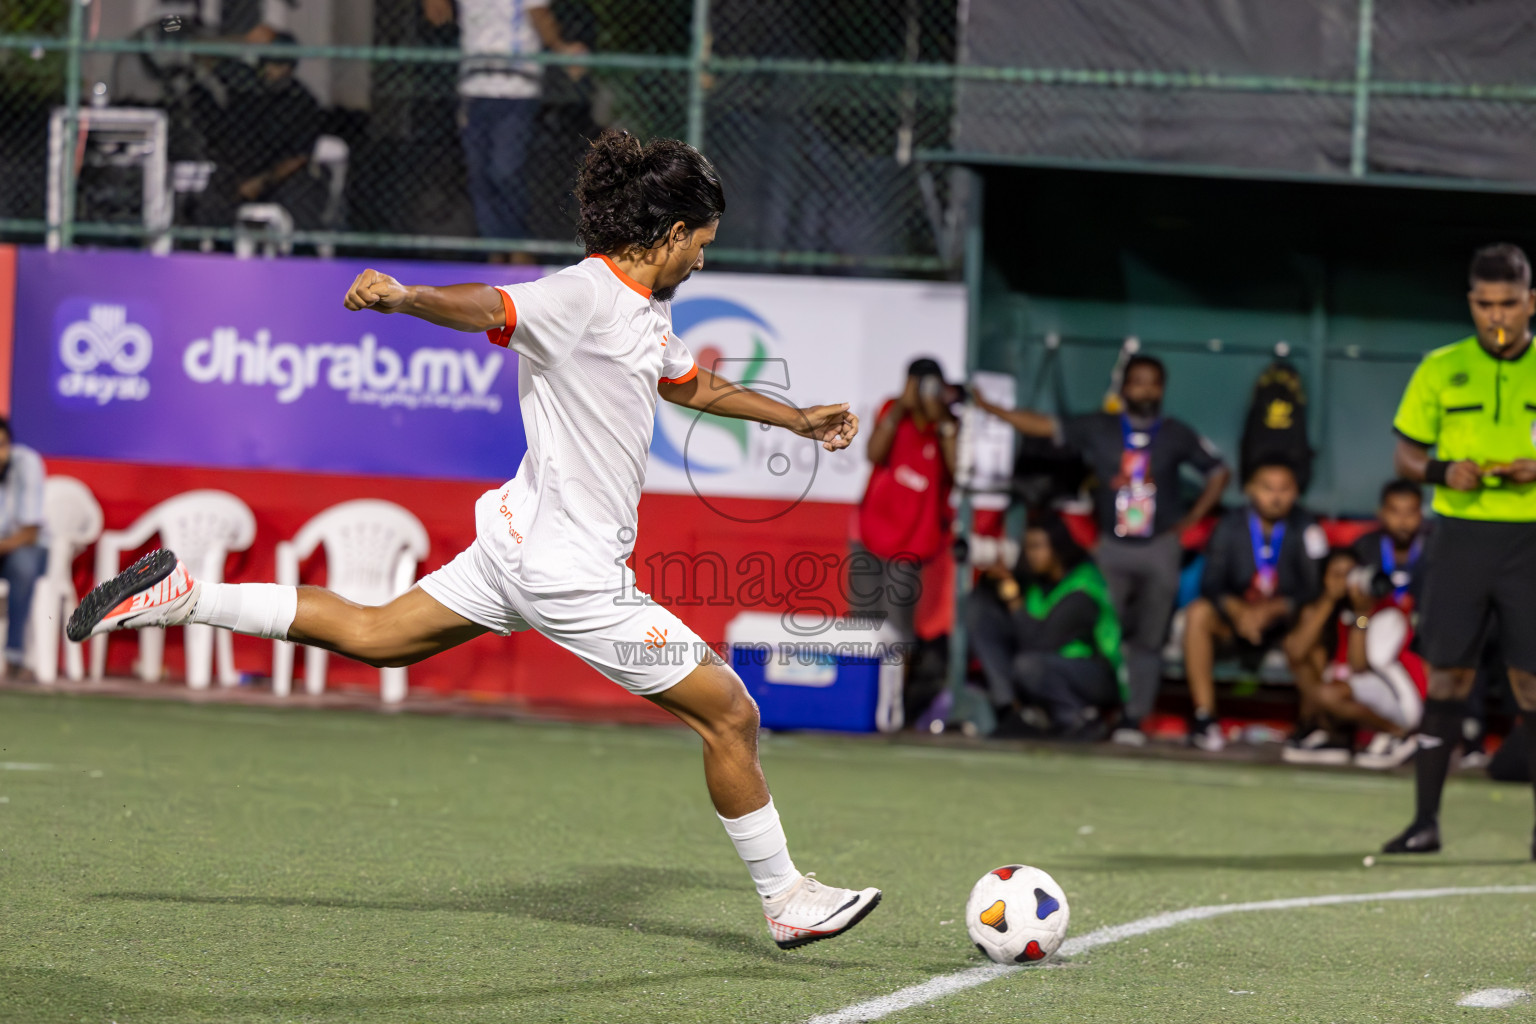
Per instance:
[[[375,263],[406,284],[538,267]],[[15,436],[164,465],[502,481],[527,447],[516,355],[350,313],[362,263],[22,249]]]

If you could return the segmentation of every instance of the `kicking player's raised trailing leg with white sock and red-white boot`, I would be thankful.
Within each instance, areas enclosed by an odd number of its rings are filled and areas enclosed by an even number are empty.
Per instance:
[[[413,665],[487,633],[418,586],[369,608],[318,586],[203,583],[161,550],[86,594],[68,634],[78,643],[109,629],[194,622],[321,646],[379,668]]]

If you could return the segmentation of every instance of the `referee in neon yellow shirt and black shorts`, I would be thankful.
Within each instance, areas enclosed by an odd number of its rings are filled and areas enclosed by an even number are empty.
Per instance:
[[[1530,261],[1514,246],[1479,249],[1468,276],[1478,333],[1424,356],[1393,421],[1398,473],[1435,485],[1439,522],[1419,608],[1430,692],[1418,734],[1418,809],[1413,824],[1385,844],[1387,854],[1441,847],[1441,791],[1495,623],[1533,740],[1536,778],[1536,355],[1530,330],[1536,292]]]

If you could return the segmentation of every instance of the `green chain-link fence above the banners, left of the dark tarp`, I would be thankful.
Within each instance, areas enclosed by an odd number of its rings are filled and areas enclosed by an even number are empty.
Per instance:
[[[899,74],[952,61],[952,0],[553,0],[554,48],[476,52],[475,18],[522,3],[11,0],[0,236],[229,249],[276,206],[300,250],[558,258],[611,126],[716,161],[723,263],[955,264],[952,172],[914,160],[946,144],[952,84]]]

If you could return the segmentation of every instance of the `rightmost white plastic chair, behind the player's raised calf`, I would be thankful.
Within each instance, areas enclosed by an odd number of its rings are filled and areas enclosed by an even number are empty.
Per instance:
[[[359,605],[384,605],[416,580],[416,563],[427,557],[427,528],[393,502],[359,499],[332,505],[310,519],[292,540],[278,543],[278,583],[298,586],[300,563],[326,548],[326,586]],[[304,691],[326,691],[329,654],[304,649]],[[293,645],[272,642],[272,692],[287,697],[293,688]],[[386,703],[406,699],[406,669],[379,669]]]

